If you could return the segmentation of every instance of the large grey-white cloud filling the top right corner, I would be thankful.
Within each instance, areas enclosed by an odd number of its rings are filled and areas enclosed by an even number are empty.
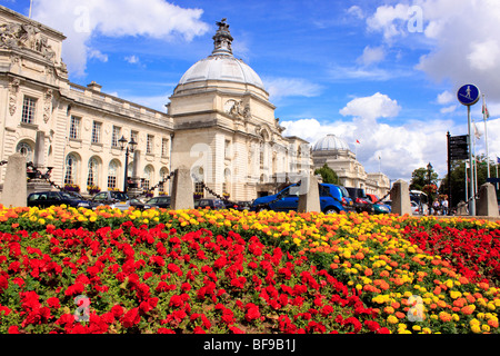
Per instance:
[[[428,52],[419,70],[431,79],[451,83],[452,90],[473,82],[493,101],[500,102],[500,1],[414,0],[420,9],[421,31],[411,33],[411,7],[381,6],[367,19],[367,29],[382,33],[386,44],[411,47],[417,41]]]

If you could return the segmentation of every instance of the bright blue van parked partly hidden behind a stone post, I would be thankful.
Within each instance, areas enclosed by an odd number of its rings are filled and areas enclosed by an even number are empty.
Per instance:
[[[297,211],[299,207],[299,189],[300,186],[291,185],[273,196],[257,198],[252,202],[252,210]],[[354,210],[352,199],[344,187],[320,184],[319,194],[321,211],[324,214]]]

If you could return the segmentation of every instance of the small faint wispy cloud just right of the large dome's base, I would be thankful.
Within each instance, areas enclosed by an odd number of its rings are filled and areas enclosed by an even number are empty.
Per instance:
[[[301,78],[262,78],[271,100],[283,97],[316,97],[322,87]]]

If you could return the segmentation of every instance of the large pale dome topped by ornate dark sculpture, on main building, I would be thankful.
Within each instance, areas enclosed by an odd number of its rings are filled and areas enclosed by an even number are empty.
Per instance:
[[[236,59],[232,55],[232,37],[229,32],[229,24],[226,19],[217,22],[219,30],[213,36],[212,55],[196,62],[182,76],[179,85],[187,85],[197,81],[221,80],[234,81],[256,86],[262,90],[264,86],[260,77],[241,59]]]

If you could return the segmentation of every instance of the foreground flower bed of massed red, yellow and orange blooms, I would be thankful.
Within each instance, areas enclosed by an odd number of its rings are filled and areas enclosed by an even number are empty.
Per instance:
[[[0,230],[2,332],[499,333],[498,222],[51,207]]]

